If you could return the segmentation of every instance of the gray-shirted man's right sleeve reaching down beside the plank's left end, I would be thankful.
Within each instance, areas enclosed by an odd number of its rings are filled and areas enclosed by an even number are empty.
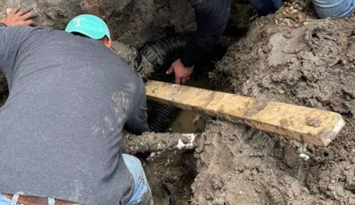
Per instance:
[[[134,93],[134,101],[132,102],[132,112],[125,124],[125,129],[133,134],[139,135],[149,131],[148,114],[147,114],[147,99],[146,88],[141,79],[137,83],[138,89]]]

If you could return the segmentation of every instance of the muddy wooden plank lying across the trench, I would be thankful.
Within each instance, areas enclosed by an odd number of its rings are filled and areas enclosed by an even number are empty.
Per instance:
[[[339,113],[149,80],[147,98],[326,147],[344,127]]]

